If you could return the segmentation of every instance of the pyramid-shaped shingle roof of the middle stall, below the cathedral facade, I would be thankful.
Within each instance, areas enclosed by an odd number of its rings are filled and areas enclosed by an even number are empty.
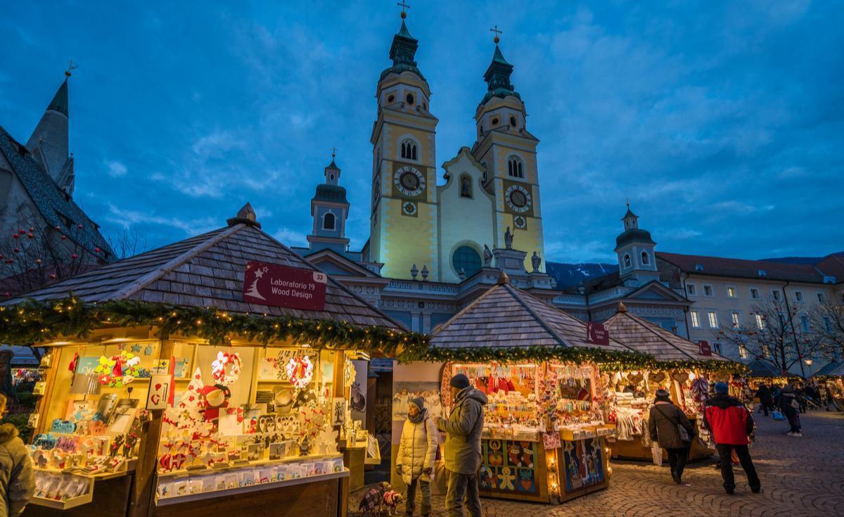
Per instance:
[[[588,343],[586,324],[503,280],[431,334],[437,348],[565,346],[630,351],[610,340]]]

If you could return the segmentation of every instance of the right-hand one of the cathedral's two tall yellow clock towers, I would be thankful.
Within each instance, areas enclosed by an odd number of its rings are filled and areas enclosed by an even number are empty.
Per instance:
[[[527,252],[525,268],[530,271],[534,251],[545,258],[536,160],[539,140],[527,132],[524,102],[510,82],[513,65],[498,46],[499,31],[493,31],[495,52],[484,73],[487,92],[475,112],[477,140],[472,154],[486,167],[484,188],[495,196],[493,244],[505,248],[509,227],[512,247]]]

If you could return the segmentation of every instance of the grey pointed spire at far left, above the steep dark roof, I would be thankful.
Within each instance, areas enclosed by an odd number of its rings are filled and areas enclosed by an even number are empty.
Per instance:
[[[73,195],[75,182],[68,137],[68,78],[73,68],[75,67],[71,62],[64,73],[64,82],[58,87],[56,95],[53,95],[52,101],[26,143],[26,150],[32,153],[35,160],[39,161],[68,196]]]

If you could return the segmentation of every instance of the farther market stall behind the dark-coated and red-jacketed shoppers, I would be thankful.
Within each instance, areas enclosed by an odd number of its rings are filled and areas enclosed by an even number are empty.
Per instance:
[[[710,433],[703,426],[710,384],[723,380],[730,384],[733,395],[744,395],[746,383],[734,375],[743,369],[742,365],[639,318],[620,302],[617,312],[603,326],[614,339],[654,358],[645,367],[621,368],[609,378],[606,418],[617,426],[610,440],[612,456],[652,460],[648,418],[657,389],[667,390],[674,404],[696,427],[700,439],[692,440],[689,459],[700,460],[713,454]],[[667,457],[667,453],[663,456]]]

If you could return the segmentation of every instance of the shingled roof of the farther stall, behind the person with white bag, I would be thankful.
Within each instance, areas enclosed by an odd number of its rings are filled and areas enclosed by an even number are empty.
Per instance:
[[[728,361],[726,357],[719,356],[715,352],[712,352],[711,356],[702,355],[700,348],[694,342],[629,313],[620,302],[618,312],[603,322],[603,326],[609,330],[610,336],[636,351],[651,354],[658,361],[690,359]]]

